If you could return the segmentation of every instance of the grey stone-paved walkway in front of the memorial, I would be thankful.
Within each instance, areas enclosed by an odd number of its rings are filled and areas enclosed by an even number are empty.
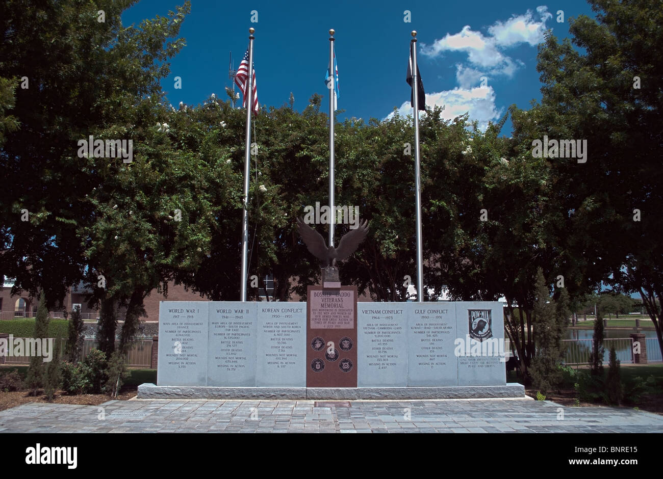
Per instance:
[[[0,433],[41,432],[662,433],[663,415],[528,399],[132,399],[100,406],[29,403],[0,411]]]

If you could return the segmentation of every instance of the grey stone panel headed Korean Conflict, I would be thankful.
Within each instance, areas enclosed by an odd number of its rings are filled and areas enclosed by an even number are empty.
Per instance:
[[[254,303],[256,386],[306,387],[306,303]]]

